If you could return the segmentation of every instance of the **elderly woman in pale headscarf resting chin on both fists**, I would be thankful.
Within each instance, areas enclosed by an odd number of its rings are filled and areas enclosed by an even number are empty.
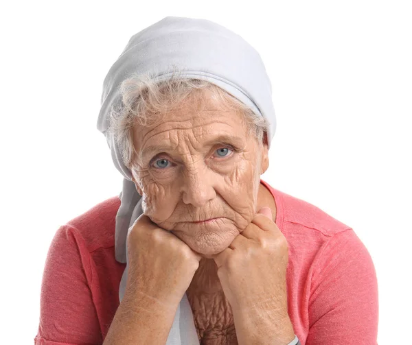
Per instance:
[[[354,230],[260,179],[271,83],[240,36],[176,17],[139,32],[98,129],[123,190],[58,229],[35,344],[376,344]]]

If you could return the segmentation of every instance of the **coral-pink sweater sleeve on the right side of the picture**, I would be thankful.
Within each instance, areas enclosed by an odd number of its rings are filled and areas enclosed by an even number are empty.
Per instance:
[[[354,230],[332,236],[314,265],[306,345],[376,345],[376,272],[367,248]]]

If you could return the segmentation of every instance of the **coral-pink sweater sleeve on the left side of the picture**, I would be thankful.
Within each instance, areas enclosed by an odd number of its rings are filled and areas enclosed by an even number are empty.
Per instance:
[[[35,345],[102,344],[91,290],[90,254],[76,228],[61,226],[49,247]]]

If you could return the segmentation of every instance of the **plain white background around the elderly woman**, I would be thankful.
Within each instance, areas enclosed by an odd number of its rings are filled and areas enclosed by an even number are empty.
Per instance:
[[[379,344],[411,341],[411,1],[14,1],[0,9],[1,344],[33,344],[58,227],[118,195],[96,121],[130,36],[209,19],[273,84],[273,187],[352,226],[378,275]],[[409,338],[409,339],[408,339]]]

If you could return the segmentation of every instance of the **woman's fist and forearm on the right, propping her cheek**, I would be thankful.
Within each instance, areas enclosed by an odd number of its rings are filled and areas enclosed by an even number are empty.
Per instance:
[[[213,259],[239,344],[291,342],[295,333],[286,291],[288,242],[273,222],[271,209],[260,209],[229,248]]]

